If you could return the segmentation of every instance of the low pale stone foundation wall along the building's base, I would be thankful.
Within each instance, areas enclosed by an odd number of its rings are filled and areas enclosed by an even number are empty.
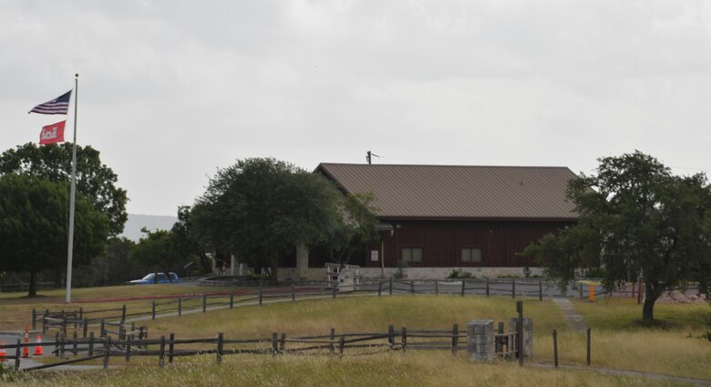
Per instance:
[[[524,267],[407,267],[405,276],[409,279],[446,278],[453,269],[461,269],[461,273],[471,273],[475,278],[525,277]],[[376,279],[381,277],[382,270],[379,267],[361,267],[358,272],[361,278]],[[394,277],[396,272],[397,267],[386,267],[385,277]],[[531,267],[531,276],[542,276],[542,274],[542,268]],[[307,269],[279,267],[280,281],[299,278],[325,280],[325,267],[309,267]]]

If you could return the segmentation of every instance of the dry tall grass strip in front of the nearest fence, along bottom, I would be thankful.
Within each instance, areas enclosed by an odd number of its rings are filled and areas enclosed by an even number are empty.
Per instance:
[[[366,357],[231,356],[222,365],[211,356],[164,369],[31,374],[18,386],[672,386],[644,378],[593,371],[551,370],[515,363],[475,364],[438,352],[398,352]]]

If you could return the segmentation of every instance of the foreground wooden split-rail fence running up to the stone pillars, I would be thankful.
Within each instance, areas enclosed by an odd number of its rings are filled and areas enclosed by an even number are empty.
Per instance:
[[[105,330],[105,336],[95,337],[90,332],[88,337],[57,336],[54,341],[42,343],[22,343],[0,346],[2,349],[15,349],[15,356],[5,357],[6,361],[15,361],[15,369],[20,369],[22,357],[19,354],[25,347],[42,346],[52,349],[48,353],[59,357],[60,361],[25,368],[24,371],[36,371],[62,365],[101,359],[106,369],[111,358],[121,358],[130,361],[132,357],[155,357],[159,366],[164,366],[166,359],[172,363],[174,358],[213,354],[216,361],[232,354],[312,354],[339,355],[346,351],[354,353],[376,353],[381,351],[407,350],[449,350],[457,355],[459,350],[467,350],[467,331],[460,330],[458,324],[451,329],[395,329],[390,325],[386,332],[343,332],[336,333],[331,329],[328,334],[317,336],[287,337],[285,333],[273,332],[271,337],[251,339],[228,339],[222,333],[217,337],[201,339],[177,339],[173,333],[169,337],[148,339],[146,329],[137,329],[135,325],[124,330],[114,338]],[[120,332],[120,329],[119,331]],[[505,332],[500,325],[496,336],[496,353],[501,358],[515,358],[519,351],[515,347],[516,331]],[[70,358],[70,356],[73,356]]]

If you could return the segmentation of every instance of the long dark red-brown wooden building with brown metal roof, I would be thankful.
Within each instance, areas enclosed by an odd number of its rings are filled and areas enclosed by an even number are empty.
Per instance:
[[[565,167],[322,163],[315,173],[343,193],[375,193],[383,239],[350,262],[374,274],[402,261],[410,277],[446,277],[459,267],[519,275],[535,267],[520,256],[526,246],[577,220],[565,196],[575,174]],[[324,267],[318,254],[308,261]]]

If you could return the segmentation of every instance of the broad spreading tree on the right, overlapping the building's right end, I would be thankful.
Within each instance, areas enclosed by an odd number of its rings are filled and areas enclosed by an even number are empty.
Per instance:
[[[579,269],[603,267],[606,288],[642,277],[642,319],[654,303],[686,281],[711,279],[711,191],[703,173],[675,176],[641,152],[599,160],[597,175],[573,179],[568,197],[577,225],[545,235],[524,255],[567,284]]]

